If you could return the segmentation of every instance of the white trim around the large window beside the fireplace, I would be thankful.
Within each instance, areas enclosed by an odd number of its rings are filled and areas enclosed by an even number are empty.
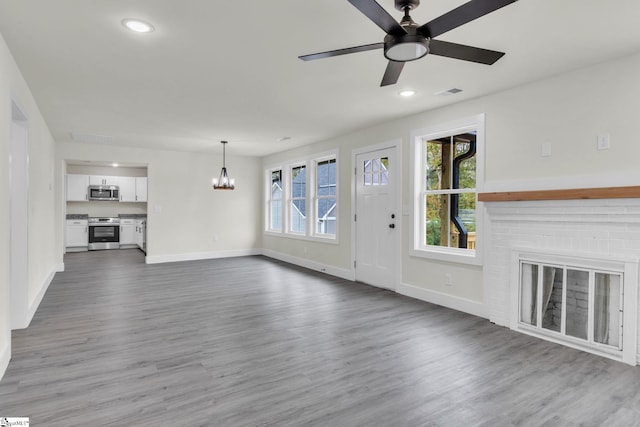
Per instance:
[[[429,258],[439,261],[457,262],[463,264],[482,265],[484,246],[484,205],[476,200],[476,247],[475,250],[427,246],[422,243],[424,236],[425,206],[422,203],[423,183],[426,182],[424,161],[424,143],[426,139],[436,139],[455,135],[469,130],[476,131],[476,194],[482,192],[484,183],[484,147],[485,147],[485,115],[478,114],[460,120],[429,126],[411,132],[413,141],[413,161],[411,162],[411,194],[413,194],[413,210],[411,221],[412,245],[411,256]],[[464,192],[456,191],[456,193]]]

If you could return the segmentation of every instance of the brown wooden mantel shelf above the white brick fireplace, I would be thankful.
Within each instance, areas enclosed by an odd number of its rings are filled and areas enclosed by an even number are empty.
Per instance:
[[[502,191],[478,193],[481,202],[523,202],[530,200],[636,199],[640,186],[572,188],[566,190]]]

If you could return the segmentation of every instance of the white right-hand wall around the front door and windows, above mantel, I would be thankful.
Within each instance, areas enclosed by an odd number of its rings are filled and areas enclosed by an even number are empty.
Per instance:
[[[265,167],[338,149],[341,220],[338,245],[265,236],[264,248],[350,269],[352,150],[402,139],[402,198],[404,205],[412,206],[411,132],[479,113],[486,115],[484,191],[640,185],[640,141],[634,132],[640,111],[639,70],[640,55],[621,58],[267,156]],[[611,149],[606,151],[596,149],[597,135],[602,133],[611,136]],[[543,142],[551,144],[551,157],[541,157]],[[399,291],[486,316],[482,267],[410,256],[411,217],[402,219]],[[453,286],[445,286],[445,274],[451,274]]]

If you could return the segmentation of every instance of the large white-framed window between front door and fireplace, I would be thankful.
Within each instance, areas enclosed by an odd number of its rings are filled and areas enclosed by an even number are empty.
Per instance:
[[[476,201],[483,123],[477,116],[415,134],[413,255],[480,263]]]

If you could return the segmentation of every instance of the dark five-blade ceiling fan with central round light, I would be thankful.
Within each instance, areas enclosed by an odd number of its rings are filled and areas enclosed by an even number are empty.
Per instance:
[[[504,52],[434,40],[434,37],[438,37],[447,31],[494,12],[517,0],[471,0],[421,26],[418,26],[409,16],[409,12],[420,5],[420,0],[394,0],[396,9],[404,12],[404,17],[400,22],[396,22],[375,0],[348,1],[387,33],[384,41],[302,55],[298,58],[303,61],[311,61],[384,48],[384,56],[389,60],[389,64],[384,72],[380,86],[389,86],[396,84],[405,62],[420,59],[427,54],[487,65],[495,63],[502,58]]]

